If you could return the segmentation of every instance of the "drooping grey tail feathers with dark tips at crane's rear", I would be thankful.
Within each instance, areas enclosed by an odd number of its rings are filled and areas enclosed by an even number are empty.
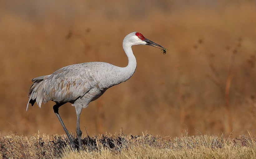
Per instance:
[[[42,101],[44,100],[44,86],[45,86],[44,80],[46,80],[47,77],[48,75],[40,76],[32,79],[32,81],[35,81],[35,82],[31,85],[27,94],[29,98],[27,102],[27,108],[29,103],[31,103],[31,105],[33,106],[35,102],[37,102],[37,105],[41,108]]]

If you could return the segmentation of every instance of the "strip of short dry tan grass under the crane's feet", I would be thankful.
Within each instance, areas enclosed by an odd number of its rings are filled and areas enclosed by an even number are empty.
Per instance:
[[[0,158],[256,158],[255,137],[142,135],[84,137],[85,151],[71,151],[59,135],[1,136]]]

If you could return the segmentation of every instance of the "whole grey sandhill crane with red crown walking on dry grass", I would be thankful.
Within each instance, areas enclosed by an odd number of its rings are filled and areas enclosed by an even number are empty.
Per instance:
[[[42,103],[48,101],[55,102],[53,111],[60,120],[60,123],[69,139],[72,149],[77,146],[83,148],[80,129],[80,114],[82,108],[99,98],[110,87],[125,82],[134,74],[137,63],[132,52],[134,45],[150,45],[161,50],[166,50],[157,43],[146,39],[139,32],[132,32],[123,40],[123,49],[128,58],[126,67],[118,67],[106,62],[86,62],[74,64],[56,70],[51,75],[44,75],[32,79],[34,82],[28,91],[28,103],[32,106],[37,102],[41,108]],[[166,51],[164,51],[164,54]],[[78,145],[75,144],[66,129],[61,116],[59,107],[65,103],[71,103],[76,109],[76,134]]]

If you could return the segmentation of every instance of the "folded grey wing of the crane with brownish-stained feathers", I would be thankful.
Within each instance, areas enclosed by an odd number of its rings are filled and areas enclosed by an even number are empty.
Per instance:
[[[94,71],[82,64],[63,67],[44,82],[45,99],[55,102],[75,101],[97,84]]]

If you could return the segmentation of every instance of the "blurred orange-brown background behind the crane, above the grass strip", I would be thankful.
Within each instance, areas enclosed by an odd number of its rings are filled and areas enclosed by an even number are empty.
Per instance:
[[[26,112],[31,79],[90,61],[125,67],[122,40],[137,31],[167,54],[134,46],[135,74],[83,109],[83,134],[255,134],[255,17],[246,0],[2,0],[0,133],[64,134],[54,102]],[[59,112],[75,132],[75,108]]]

